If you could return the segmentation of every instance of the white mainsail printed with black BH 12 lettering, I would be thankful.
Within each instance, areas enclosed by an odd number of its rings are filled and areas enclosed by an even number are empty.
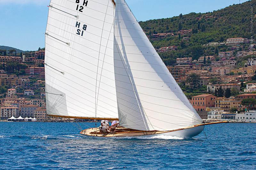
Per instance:
[[[118,118],[112,0],[52,0],[45,31],[48,115]]]

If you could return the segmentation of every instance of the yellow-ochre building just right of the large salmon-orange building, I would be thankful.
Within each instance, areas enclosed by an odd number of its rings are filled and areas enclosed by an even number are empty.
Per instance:
[[[231,108],[242,110],[242,99],[230,97],[220,101],[220,109],[229,112]]]

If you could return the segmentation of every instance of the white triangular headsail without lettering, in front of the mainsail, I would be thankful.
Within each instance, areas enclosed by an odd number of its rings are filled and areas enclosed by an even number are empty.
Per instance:
[[[202,123],[124,0],[116,1],[114,65],[121,126],[173,130]]]

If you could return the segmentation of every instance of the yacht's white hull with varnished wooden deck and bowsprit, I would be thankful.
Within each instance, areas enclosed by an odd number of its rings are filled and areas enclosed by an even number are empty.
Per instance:
[[[182,138],[191,138],[197,136],[204,130],[205,125],[217,124],[217,123],[227,123],[227,121],[223,122],[210,122],[210,123],[202,123],[198,125],[189,126],[182,129],[168,130],[168,131],[159,131],[159,130],[135,130],[124,127],[118,127],[114,132],[108,134],[102,134],[99,131],[99,128],[88,128],[84,129],[80,132],[80,134],[93,137],[93,138],[107,138],[107,137],[153,137],[158,135],[165,136],[175,136]]]

